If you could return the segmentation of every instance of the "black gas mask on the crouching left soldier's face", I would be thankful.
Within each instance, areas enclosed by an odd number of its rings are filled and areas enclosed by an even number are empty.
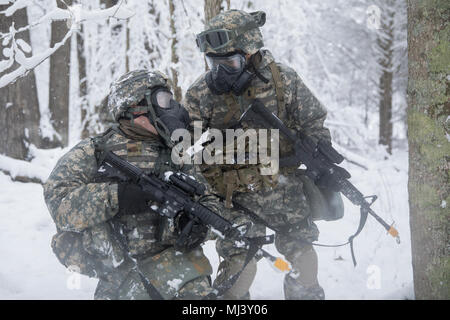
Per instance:
[[[186,129],[190,123],[189,113],[176,100],[170,90],[163,86],[153,87],[144,92],[145,98],[137,106],[129,107],[124,114],[131,122],[146,116],[155,127],[159,136],[168,147],[173,147],[175,141],[171,139],[176,129]]]

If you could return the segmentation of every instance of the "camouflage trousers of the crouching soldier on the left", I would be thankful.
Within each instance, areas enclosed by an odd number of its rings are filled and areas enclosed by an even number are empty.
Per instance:
[[[140,260],[138,264],[127,260],[114,272],[100,279],[94,298],[158,299],[149,294],[144,286],[143,281],[149,281],[163,299],[202,299],[213,291],[209,278],[211,272],[209,261],[201,248],[184,254],[169,248]]]

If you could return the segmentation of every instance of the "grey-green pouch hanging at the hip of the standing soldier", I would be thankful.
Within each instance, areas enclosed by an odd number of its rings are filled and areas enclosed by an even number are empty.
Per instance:
[[[311,208],[313,221],[335,221],[344,216],[344,202],[339,192],[317,187],[307,176],[299,175]]]

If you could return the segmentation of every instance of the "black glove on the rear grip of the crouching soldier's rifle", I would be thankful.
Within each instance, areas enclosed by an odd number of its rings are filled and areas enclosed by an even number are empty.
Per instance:
[[[147,193],[134,183],[121,182],[118,187],[119,214],[138,214],[148,210]]]

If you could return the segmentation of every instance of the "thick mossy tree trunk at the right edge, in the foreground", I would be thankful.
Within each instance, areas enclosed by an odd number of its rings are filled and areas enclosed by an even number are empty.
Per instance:
[[[450,298],[449,14],[447,0],[408,0],[408,191],[417,299]]]

